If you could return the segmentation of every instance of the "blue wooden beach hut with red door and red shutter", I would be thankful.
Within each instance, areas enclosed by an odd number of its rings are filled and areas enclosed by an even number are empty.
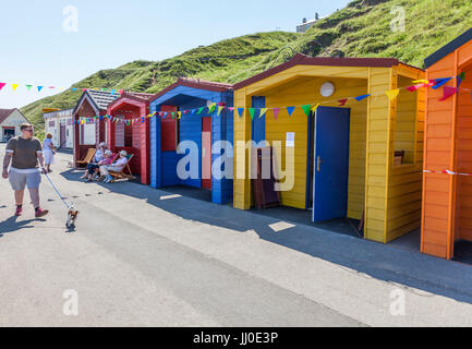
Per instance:
[[[179,79],[158,93],[150,103],[156,113],[150,123],[152,186],[199,188],[211,191],[214,203],[232,202],[232,106],[228,84]],[[194,148],[185,151],[189,142]],[[179,164],[189,156],[195,164],[193,174],[179,174]]]

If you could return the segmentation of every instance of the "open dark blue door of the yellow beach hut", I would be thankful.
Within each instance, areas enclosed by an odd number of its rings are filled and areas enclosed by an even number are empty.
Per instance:
[[[346,108],[316,110],[313,221],[348,214],[350,113]]]

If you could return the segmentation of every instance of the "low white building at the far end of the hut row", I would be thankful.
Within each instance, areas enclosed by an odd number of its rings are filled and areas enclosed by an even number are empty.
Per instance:
[[[43,109],[43,111],[49,110],[51,109]],[[55,110],[45,112],[43,116],[45,118],[45,134],[52,134],[52,143],[58,148],[72,149],[74,147],[72,111],[73,109]]]

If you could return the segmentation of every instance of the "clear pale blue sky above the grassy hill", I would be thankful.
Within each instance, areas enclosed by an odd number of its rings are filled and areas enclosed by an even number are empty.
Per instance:
[[[21,108],[102,69],[329,15],[348,0],[0,0],[0,108]],[[15,92],[11,84],[20,84]],[[44,85],[38,93],[25,84]],[[48,88],[56,86],[56,89]],[[100,87],[100,86],[94,86]]]

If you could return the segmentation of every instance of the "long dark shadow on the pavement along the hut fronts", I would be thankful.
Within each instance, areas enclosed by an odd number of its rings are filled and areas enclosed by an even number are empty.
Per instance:
[[[80,181],[80,174],[73,170],[61,174],[66,180]],[[185,190],[182,188],[156,190],[126,181],[98,185],[114,193],[145,200],[155,207],[187,220],[240,232],[254,231],[263,240],[337,264],[366,279],[373,277],[398,288],[408,288],[411,292],[416,292],[412,290],[414,288],[472,304],[472,268],[469,265],[361,240],[352,234],[352,227],[348,228],[348,225],[355,226],[355,221],[334,221],[331,227],[338,226],[339,229],[330,229],[329,222],[316,227],[310,220],[300,222],[300,219],[282,216],[285,208],[261,215],[234,209],[230,205],[204,203],[184,196]],[[306,213],[299,215],[303,217]],[[351,233],[347,229],[351,229]],[[338,230],[342,234],[330,230]],[[424,292],[420,294],[431,297]]]

